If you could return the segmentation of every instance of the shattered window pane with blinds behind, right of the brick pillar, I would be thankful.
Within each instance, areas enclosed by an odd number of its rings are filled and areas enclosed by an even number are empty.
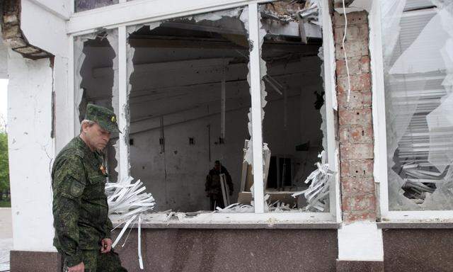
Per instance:
[[[381,5],[389,210],[452,210],[453,3]]]

